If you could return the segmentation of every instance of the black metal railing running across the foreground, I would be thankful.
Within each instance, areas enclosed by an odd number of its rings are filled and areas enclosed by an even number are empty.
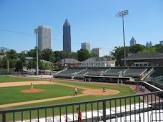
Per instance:
[[[163,91],[160,91],[87,102],[1,110],[0,122],[161,122],[162,98]]]

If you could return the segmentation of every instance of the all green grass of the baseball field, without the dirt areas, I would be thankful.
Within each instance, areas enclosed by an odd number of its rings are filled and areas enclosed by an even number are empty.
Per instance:
[[[5,81],[3,81],[5,79]],[[31,78],[20,78],[20,77],[11,77],[11,76],[0,76],[0,81],[2,82],[11,82],[11,81],[30,81]],[[126,96],[133,95],[135,91],[129,86],[124,84],[107,84],[107,83],[95,83],[95,82],[81,82],[81,81],[71,81],[71,80],[60,80],[55,79],[55,82],[80,86],[84,88],[92,88],[92,89],[102,89],[105,87],[106,89],[113,89],[120,91],[117,95],[108,95],[108,96],[82,96],[77,98],[69,98],[64,100],[55,100],[49,102],[41,102],[37,104],[31,104],[28,106],[40,106],[40,105],[52,105],[52,104],[61,104],[61,103],[71,103],[71,102],[81,102],[87,100],[96,100],[102,98],[110,98],[115,96]],[[22,93],[21,90],[30,88],[30,86],[16,86],[16,87],[4,87],[0,88],[0,104],[7,103],[15,103],[15,102],[23,102],[30,100],[38,100],[38,99],[46,99],[46,98],[54,98],[61,97],[74,94],[74,88],[65,87],[63,85],[34,85],[34,88],[44,89],[45,92],[41,93]],[[20,106],[22,107],[22,106]]]

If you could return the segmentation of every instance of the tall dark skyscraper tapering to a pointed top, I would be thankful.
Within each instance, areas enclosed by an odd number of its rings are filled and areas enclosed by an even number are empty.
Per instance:
[[[63,24],[63,51],[71,52],[71,27],[67,19]]]

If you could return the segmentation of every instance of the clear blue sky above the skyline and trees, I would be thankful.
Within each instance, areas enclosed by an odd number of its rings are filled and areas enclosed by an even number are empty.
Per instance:
[[[163,40],[163,0],[0,0],[0,47],[29,50],[35,46],[34,28],[47,25],[52,49],[62,50],[62,25],[68,18],[73,51],[86,41],[109,54],[123,45],[122,21],[116,17],[123,9],[129,10],[127,45],[132,36],[141,44]]]

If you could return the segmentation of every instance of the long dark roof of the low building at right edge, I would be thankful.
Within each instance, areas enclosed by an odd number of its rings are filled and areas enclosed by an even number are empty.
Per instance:
[[[128,56],[126,60],[156,60],[163,59],[163,53],[136,53]]]

